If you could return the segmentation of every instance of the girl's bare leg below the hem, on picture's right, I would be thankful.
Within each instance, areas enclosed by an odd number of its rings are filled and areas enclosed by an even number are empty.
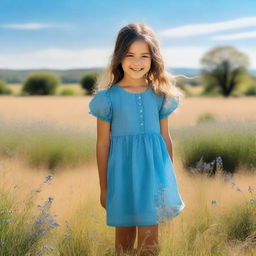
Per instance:
[[[159,254],[158,224],[138,226],[138,256]]]

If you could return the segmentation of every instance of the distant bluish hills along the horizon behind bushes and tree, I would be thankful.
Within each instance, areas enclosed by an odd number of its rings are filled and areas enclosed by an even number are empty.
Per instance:
[[[26,70],[14,70],[14,69],[0,69],[0,80],[4,80],[6,83],[22,83],[33,72],[53,72],[57,74],[63,84],[79,83],[81,78],[91,72],[100,72],[102,68],[90,68],[90,69],[26,69]],[[175,75],[195,76],[200,73],[200,69],[196,68],[169,68],[168,71]],[[249,70],[251,74],[256,76],[256,70]]]

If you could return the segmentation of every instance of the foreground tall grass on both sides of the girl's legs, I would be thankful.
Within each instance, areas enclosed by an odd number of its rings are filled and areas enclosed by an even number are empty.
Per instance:
[[[1,190],[0,255],[114,256],[114,232],[105,225],[105,213],[98,210],[94,195],[65,221],[65,226],[50,212],[52,197],[36,206],[37,195],[51,179],[47,176],[23,204],[12,198],[11,190]],[[229,183],[234,196],[242,193],[242,201],[227,208],[215,200],[209,205],[201,197],[194,212],[181,214],[181,222],[160,224],[160,256],[255,255],[256,187],[242,191],[234,182]]]

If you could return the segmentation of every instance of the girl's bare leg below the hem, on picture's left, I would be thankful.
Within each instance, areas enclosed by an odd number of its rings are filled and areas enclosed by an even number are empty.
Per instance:
[[[115,249],[117,256],[133,252],[136,239],[136,226],[116,227]]]

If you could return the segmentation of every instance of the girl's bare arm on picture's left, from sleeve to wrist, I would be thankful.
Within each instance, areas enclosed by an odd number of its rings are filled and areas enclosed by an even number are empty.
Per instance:
[[[110,146],[110,123],[97,118],[96,156],[101,191],[107,191],[107,166]]]

